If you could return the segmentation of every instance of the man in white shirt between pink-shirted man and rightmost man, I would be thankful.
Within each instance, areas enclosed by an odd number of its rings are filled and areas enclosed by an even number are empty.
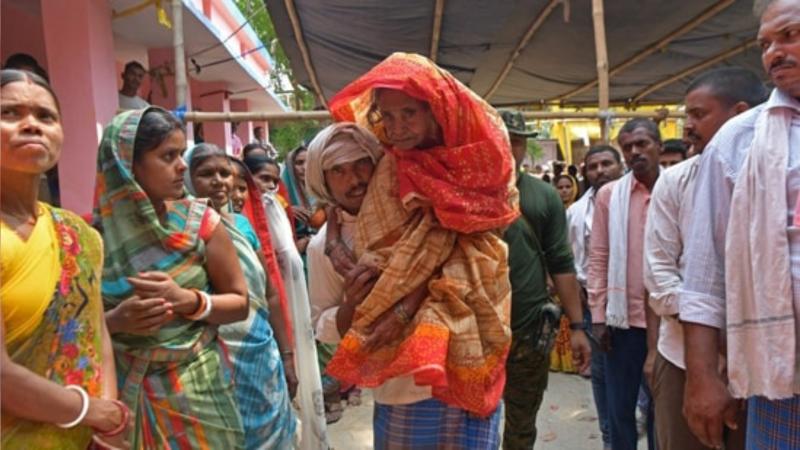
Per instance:
[[[644,280],[650,293],[657,347],[648,348],[645,371],[655,401],[656,439],[660,450],[706,449],[684,419],[686,365],[683,331],[678,322],[678,289],[684,278],[684,249],[692,218],[699,154],[729,119],[762,103],[767,89],[753,72],[724,68],[697,77],[686,90],[686,134],[697,155],[665,171],[650,199],[645,227]],[[653,339],[655,340],[655,339]],[[744,448],[742,433],[727,436],[726,448]]]

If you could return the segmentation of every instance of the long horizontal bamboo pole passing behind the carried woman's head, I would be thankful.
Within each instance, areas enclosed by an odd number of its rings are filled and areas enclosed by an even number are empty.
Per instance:
[[[523,117],[530,120],[556,120],[556,119],[632,119],[636,117],[658,119],[658,118],[681,118],[686,115],[681,111],[523,111]],[[247,122],[247,121],[294,121],[294,120],[318,120],[330,121],[331,116],[328,111],[287,111],[287,112],[265,112],[265,111],[243,111],[243,112],[201,112],[189,111],[184,114],[187,122]]]

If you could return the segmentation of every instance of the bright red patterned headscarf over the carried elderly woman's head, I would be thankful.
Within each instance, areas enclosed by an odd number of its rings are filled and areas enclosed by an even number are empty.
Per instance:
[[[395,89],[430,105],[444,145],[392,149],[367,114],[377,88]],[[509,225],[519,213],[509,202],[514,163],[502,119],[450,73],[427,58],[394,53],[330,101],[335,121],[370,128],[397,160],[400,197],[430,202],[442,226],[461,233]]]

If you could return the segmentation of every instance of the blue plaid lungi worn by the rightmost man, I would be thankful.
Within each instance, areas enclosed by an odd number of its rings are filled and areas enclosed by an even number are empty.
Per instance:
[[[747,448],[800,448],[800,396],[786,400],[750,398],[747,401]]]

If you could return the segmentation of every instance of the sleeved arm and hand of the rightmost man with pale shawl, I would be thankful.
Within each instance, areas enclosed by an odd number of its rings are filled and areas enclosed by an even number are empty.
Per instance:
[[[693,220],[686,242],[686,270],[679,296],[686,349],[684,416],[705,445],[722,444],[723,424],[736,426],[737,406],[718,371],[719,330],[725,326],[725,235],[733,182],[719,158],[706,149],[697,174]],[[725,151],[728,151],[725,148]]]

